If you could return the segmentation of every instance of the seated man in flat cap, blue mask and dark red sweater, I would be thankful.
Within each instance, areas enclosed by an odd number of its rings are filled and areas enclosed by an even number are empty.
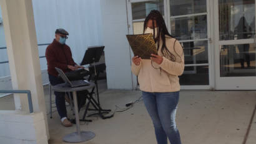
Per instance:
[[[71,49],[67,46],[66,39],[69,33],[64,29],[57,29],[55,31],[55,38],[53,42],[46,48],[46,60],[48,66],[49,81],[52,86],[60,83],[64,83],[62,79],[58,78],[58,73],[55,67],[60,68],[64,73],[78,68],[83,68],[77,65],[73,58]],[[64,92],[54,92],[56,95],[56,107],[57,112],[61,117],[61,123],[65,127],[71,127],[71,122],[67,119],[67,110],[65,103]]]

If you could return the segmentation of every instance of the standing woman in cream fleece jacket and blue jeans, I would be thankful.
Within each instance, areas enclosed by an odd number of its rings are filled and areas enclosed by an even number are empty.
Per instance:
[[[184,53],[180,43],[167,31],[159,11],[153,10],[145,18],[144,34],[152,33],[158,55],[151,60],[132,58],[132,73],[139,76],[144,104],[155,128],[158,144],[181,144],[175,114],[179,102],[179,78],[184,71]]]

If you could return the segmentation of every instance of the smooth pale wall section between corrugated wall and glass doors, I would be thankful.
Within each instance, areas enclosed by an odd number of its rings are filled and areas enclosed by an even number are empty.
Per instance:
[[[132,89],[126,0],[101,0],[102,29],[109,89]]]

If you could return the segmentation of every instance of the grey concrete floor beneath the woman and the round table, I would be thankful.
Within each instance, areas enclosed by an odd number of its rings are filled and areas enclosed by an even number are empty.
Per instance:
[[[100,84],[101,85],[101,84]],[[105,90],[101,88],[104,109],[125,108],[125,104],[139,99],[140,91]],[[46,104],[49,95],[45,90]],[[11,104],[11,98],[0,99],[0,107]],[[256,91],[182,91],[177,110],[177,127],[183,144],[242,144],[256,104]],[[10,107],[10,106],[9,106]],[[74,117],[67,107],[69,117]],[[82,110],[83,112],[83,110]],[[82,117],[82,112],[81,117]],[[111,119],[91,117],[93,122],[81,122],[81,130],[96,133],[87,144],[155,144],[152,122],[142,101],[126,112],[116,112]],[[50,144],[59,144],[64,135],[75,132],[76,126],[63,127],[56,111],[49,119]],[[249,137],[244,144],[256,143],[256,115]]]

